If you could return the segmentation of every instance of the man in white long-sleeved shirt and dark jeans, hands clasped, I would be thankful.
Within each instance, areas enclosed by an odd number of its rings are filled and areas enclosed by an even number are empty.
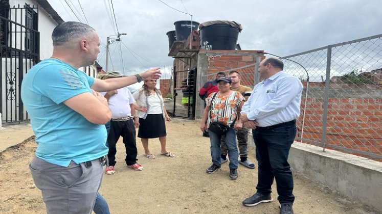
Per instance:
[[[284,73],[281,60],[261,61],[260,79],[241,110],[241,121],[252,128],[258,162],[257,192],[245,199],[245,206],[273,201],[271,186],[276,179],[280,214],[293,214],[293,175],[287,162],[296,137],[296,119],[300,116],[300,80]]]

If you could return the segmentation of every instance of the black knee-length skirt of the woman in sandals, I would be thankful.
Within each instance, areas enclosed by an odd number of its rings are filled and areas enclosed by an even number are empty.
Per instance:
[[[138,138],[159,138],[167,135],[165,119],[162,114],[139,118]]]

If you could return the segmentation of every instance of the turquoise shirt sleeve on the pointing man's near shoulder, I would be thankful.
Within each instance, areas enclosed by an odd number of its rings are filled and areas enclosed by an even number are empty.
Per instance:
[[[34,78],[34,88],[59,104],[79,94],[91,92],[89,83],[93,84],[94,78],[87,78],[85,73],[82,75],[80,72],[53,66],[52,69],[40,70]]]

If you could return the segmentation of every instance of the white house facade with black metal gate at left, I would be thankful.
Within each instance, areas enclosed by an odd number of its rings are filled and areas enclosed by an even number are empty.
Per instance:
[[[26,72],[52,56],[51,34],[63,22],[48,1],[0,1],[0,113],[3,125],[28,120],[20,99]]]

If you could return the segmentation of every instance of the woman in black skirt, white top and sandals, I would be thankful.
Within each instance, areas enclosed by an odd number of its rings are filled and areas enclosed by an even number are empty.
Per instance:
[[[156,80],[144,81],[141,89],[132,94],[136,100],[137,116],[139,117],[138,138],[141,138],[144,155],[147,158],[155,158],[148,148],[148,139],[159,138],[161,142],[161,154],[167,157],[174,155],[166,149],[166,125],[165,119],[171,121],[168,116],[161,92],[156,89]]]

